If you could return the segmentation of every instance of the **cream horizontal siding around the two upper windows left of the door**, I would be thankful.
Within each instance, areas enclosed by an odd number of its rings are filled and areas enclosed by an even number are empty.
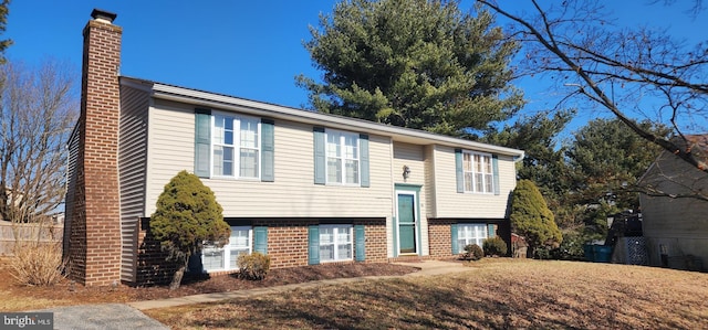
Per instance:
[[[369,136],[369,188],[319,185],[314,184],[312,129],[312,125],[275,120],[274,182],[202,179],[223,207],[223,216],[389,216],[393,185],[389,138]],[[192,106],[156,100],[150,108],[148,215],[154,212],[164,185],[177,172],[194,171],[194,130]]]

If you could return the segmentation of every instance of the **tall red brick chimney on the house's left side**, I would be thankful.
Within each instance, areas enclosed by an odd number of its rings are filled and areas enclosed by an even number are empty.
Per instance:
[[[123,29],[113,24],[115,13],[94,9],[91,17],[83,31],[80,140],[65,253],[71,279],[103,286],[121,280],[118,67]]]

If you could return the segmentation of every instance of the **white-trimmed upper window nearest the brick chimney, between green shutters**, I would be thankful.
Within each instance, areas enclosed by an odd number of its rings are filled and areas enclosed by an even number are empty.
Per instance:
[[[211,118],[211,175],[258,179],[260,119],[223,114]]]

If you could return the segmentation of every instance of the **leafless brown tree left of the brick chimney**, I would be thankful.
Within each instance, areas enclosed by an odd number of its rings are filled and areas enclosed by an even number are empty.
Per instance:
[[[0,67],[0,219],[32,223],[61,211],[66,140],[79,113],[69,66]]]

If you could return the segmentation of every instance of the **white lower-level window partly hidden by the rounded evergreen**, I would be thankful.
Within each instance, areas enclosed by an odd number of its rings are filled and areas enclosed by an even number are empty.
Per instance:
[[[223,247],[204,245],[201,264],[207,272],[238,269],[236,260],[241,254],[251,253],[252,231],[250,226],[232,226],[229,243]]]

